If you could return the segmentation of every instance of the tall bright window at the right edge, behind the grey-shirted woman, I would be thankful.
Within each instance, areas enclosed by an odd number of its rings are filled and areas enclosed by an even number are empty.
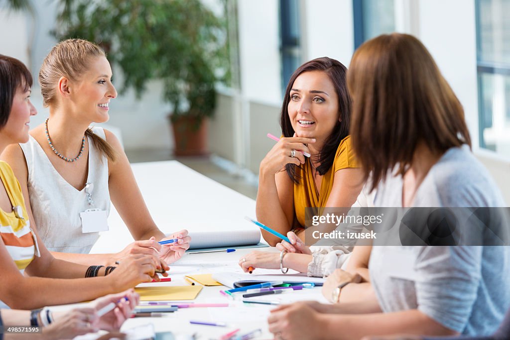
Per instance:
[[[475,3],[480,147],[510,155],[510,2]]]

